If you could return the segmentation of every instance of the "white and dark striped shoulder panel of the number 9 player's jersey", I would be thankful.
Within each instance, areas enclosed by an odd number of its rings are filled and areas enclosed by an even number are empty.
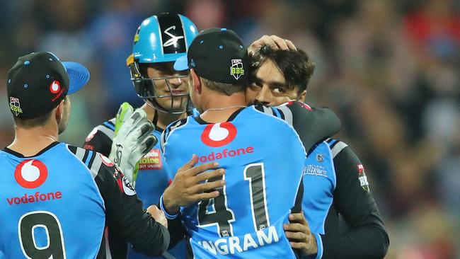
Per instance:
[[[76,159],[79,159],[82,163],[84,163],[86,168],[88,168],[88,171],[90,171],[91,175],[93,175],[93,178],[96,178],[103,164],[107,166],[113,165],[110,159],[97,151],[84,149],[78,146],[71,146],[69,144],[67,144],[67,149],[74,154]]]

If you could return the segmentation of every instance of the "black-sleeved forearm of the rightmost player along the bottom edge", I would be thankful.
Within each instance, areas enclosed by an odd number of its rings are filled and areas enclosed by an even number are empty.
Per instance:
[[[340,236],[321,236],[322,258],[372,259],[384,258],[389,247],[389,237],[379,226],[362,226],[350,229]]]

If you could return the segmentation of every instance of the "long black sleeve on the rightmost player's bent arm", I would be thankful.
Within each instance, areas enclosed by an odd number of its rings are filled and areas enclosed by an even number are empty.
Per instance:
[[[349,147],[345,147],[335,156],[334,166],[337,188],[326,218],[326,234],[321,236],[323,258],[384,258],[389,236],[367,180],[364,180],[362,163]],[[340,231],[344,228],[339,214],[347,224],[345,231]]]

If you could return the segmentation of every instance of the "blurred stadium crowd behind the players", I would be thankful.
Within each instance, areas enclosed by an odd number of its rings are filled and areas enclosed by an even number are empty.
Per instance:
[[[122,100],[140,104],[125,58],[144,18],[183,13],[246,44],[276,34],[316,61],[308,103],[339,113],[338,137],[362,159],[389,231],[386,258],[460,258],[459,0],[16,0],[0,9],[0,146],[13,138],[6,74],[23,54],[49,50],[90,69],[61,138],[81,146]]]

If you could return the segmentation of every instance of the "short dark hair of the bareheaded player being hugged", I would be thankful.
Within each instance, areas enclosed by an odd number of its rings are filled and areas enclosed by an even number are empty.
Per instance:
[[[251,57],[251,72],[264,62],[271,60],[280,69],[289,90],[299,88],[299,93],[306,90],[311,75],[315,71],[315,62],[303,50],[272,50],[270,46],[260,47]]]

